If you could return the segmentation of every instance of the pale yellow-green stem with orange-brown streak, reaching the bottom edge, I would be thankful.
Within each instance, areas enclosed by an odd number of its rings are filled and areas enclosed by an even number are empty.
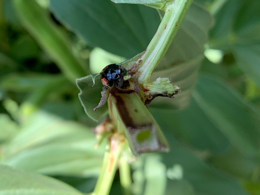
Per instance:
[[[115,133],[110,142],[110,148],[105,153],[102,170],[97,180],[93,195],[108,195],[115,177],[118,160],[125,144],[123,135]]]

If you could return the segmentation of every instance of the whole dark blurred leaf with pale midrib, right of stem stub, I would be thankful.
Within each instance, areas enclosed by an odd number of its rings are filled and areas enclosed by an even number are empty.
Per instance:
[[[200,76],[187,109],[151,112],[163,130],[199,149],[224,152],[231,143],[243,154],[258,153],[259,109],[213,75]]]

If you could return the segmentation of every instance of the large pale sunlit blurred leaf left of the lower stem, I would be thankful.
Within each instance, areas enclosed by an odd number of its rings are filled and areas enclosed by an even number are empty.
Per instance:
[[[104,146],[93,132],[76,122],[35,112],[5,146],[2,163],[48,175],[97,176]]]

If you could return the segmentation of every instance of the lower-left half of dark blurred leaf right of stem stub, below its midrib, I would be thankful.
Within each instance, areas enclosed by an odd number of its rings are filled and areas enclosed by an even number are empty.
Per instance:
[[[221,153],[230,146],[226,136],[209,120],[193,98],[189,107],[184,110],[174,111],[153,107],[149,110],[164,132],[172,131],[188,145],[216,153]]]

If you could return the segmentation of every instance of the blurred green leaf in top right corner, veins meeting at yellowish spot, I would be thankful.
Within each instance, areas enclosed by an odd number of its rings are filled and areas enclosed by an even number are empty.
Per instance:
[[[260,2],[227,1],[216,15],[209,46],[231,50],[242,71],[260,86]]]

